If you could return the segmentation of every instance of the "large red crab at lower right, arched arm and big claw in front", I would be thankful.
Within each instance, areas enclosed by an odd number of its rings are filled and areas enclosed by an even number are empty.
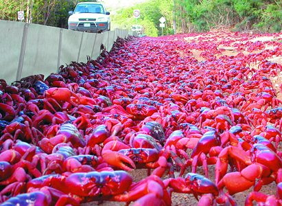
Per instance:
[[[243,161],[248,166],[241,172],[225,174],[218,182],[218,174],[226,172],[227,156]],[[251,149],[250,156],[244,150],[230,146],[220,152],[218,163],[215,166],[215,183],[218,183],[219,190],[226,186],[231,195],[247,190],[252,185],[255,185],[254,190],[258,192],[262,185],[267,185],[275,180],[280,181],[277,176],[281,175],[281,167],[281,159],[267,146],[255,144]],[[259,179],[259,181],[255,183],[255,179]]]

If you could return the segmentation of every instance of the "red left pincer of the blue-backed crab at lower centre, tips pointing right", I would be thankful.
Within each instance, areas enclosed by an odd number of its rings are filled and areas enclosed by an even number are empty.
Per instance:
[[[129,157],[126,157],[126,155],[122,155],[119,152],[106,150],[105,152],[103,152],[102,157],[104,161],[109,165],[121,168],[126,171],[131,171],[132,168],[136,168],[134,162]],[[128,167],[126,164],[130,165],[132,168]]]

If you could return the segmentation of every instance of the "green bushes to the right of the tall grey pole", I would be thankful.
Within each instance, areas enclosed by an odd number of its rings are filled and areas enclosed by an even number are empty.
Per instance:
[[[183,32],[207,32],[222,27],[261,32],[281,32],[282,1],[176,0],[178,23]],[[178,31],[180,32],[180,31]]]

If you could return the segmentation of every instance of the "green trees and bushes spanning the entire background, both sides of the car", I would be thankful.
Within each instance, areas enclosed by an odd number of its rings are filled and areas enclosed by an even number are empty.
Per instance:
[[[67,28],[68,12],[76,3],[78,0],[0,0],[0,19],[17,21],[17,11],[24,10],[26,22]],[[128,3],[127,8],[121,5],[123,8],[119,10],[110,8],[112,28],[130,29],[137,23],[133,10],[139,9],[138,24],[145,26],[148,36],[161,35],[158,21],[161,16],[167,20],[164,35],[174,34],[173,10],[177,33],[223,29],[277,33],[282,30],[282,1],[151,0],[133,6]]]

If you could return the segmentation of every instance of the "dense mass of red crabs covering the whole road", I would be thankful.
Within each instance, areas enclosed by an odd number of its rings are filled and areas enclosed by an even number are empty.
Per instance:
[[[129,36],[1,80],[1,205],[282,205],[281,40]]]

